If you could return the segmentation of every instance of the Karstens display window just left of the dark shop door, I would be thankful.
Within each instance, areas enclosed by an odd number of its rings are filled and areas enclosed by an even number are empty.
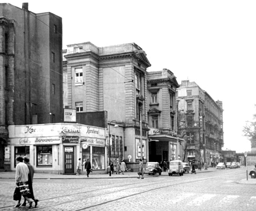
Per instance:
[[[37,167],[52,167],[52,145],[37,146]]]

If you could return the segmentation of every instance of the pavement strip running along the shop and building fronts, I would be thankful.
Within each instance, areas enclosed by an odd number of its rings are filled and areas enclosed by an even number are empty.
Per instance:
[[[215,171],[215,168],[209,168],[208,170],[202,170],[202,171],[196,171],[196,173],[206,173],[206,172],[212,172]],[[63,175],[63,174],[53,174],[53,173],[34,173],[34,179],[117,179],[117,178],[130,178],[130,177],[138,177],[137,171],[135,172],[124,172],[124,174],[111,174],[109,176],[109,173],[96,173],[97,171],[94,171],[93,173],[90,173],[89,177],[87,177],[85,174],[76,176],[74,175]],[[185,173],[187,174],[187,173]],[[144,175],[144,177],[147,177],[148,175]],[[150,175],[151,176],[151,175]],[[159,176],[156,174],[155,176]],[[168,171],[162,172],[161,176],[168,176]],[[15,179],[15,171],[9,171],[9,172],[0,172],[0,179]],[[256,181],[256,180],[255,180]]]

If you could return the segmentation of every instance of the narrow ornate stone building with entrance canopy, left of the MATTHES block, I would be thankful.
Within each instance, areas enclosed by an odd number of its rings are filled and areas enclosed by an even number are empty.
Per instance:
[[[179,87],[172,71],[147,73],[149,161],[181,159],[182,138],[177,134],[175,95]]]

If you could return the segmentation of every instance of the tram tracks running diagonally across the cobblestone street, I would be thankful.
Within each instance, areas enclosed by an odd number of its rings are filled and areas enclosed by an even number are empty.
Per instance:
[[[232,175],[232,174],[233,174],[233,172],[227,173],[227,175]],[[116,200],[122,200],[122,199],[129,198],[132,196],[144,194],[146,192],[154,191],[157,189],[172,187],[175,185],[182,185],[182,184],[191,183],[191,182],[216,179],[218,177],[219,177],[219,175],[218,176],[214,175],[214,176],[202,178],[202,179],[199,179],[198,177],[196,177],[196,178],[190,177],[186,181],[181,181],[180,179],[182,179],[184,177],[177,176],[177,178],[175,180],[169,180],[169,179],[162,180],[162,178],[161,178],[161,180],[156,180],[156,181],[144,180],[142,183],[140,183],[142,180],[136,180],[136,182],[133,181],[132,183],[129,183],[129,184],[118,183],[118,185],[115,185],[113,183],[113,184],[108,184],[107,186],[106,185],[96,185],[96,186],[91,187],[94,189],[86,190],[86,191],[82,191],[82,192],[79,191],[79,189],[80,190],[87,189],[89,187],[81,187],[78,189],[72,189],[72,191],[71,191],[72,194],[69,193],[69,194],[65,194],[65,195],[58,195],[58,196],[54,196],[51,198],[46,198],[46,199],[40,200],[41,203],[44,203],[44,202],[48,202],[48,203],[46,204],[46,206],[42,206],[42,207],[38,206],[37,210],[52,210],[52,208],[54,210],[54,207],[63,206],[65,204],[68,207],[70,207],[71,204],[73,204],[73,203],[77,204],[78,202],[82,205],[83,201],[86,204],[86,200],[88,200],[88,199],[91,200],[91,198],[98,198],[98,201],[99,201],[98,203],[94,203],[93,205],[91,205],[91,203],[88,203],[86,206],[82,206],[82,207],[80,206],[79,208],[72,209],[72,210],[76,210],[76,211],[87,210],[90,208],[97,208],[97,206],[102,206],[103,204],[108,204],[108,203],[111,203]],[[168,178],[173,178],[173,177],[168,177]],[[169,184],[166,184],[166,183],[169,183]],[[102,187],[102,186],[104,186],[104,187]],[[142,188],[143,188],[143,190],[140,190]],[[116,194],[117,197],[113,198],[111,196],[112,194]],[[74,198],[74,199],[72,199],[72,198]],[[102,198],[105,198],[105,199],[102,199]],[[110,199],[108,199],[108,198],[110,198]],[[13,206],[2,207],[2,208],[0,208],[0,210],[5,210],[5,208],[10,208],[10,207],[13,207]],[[62,210],[62,209],[60,209],[60,210]]]

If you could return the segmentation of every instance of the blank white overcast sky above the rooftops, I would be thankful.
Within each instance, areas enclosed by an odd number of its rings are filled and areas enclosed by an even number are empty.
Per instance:
[[[147,54],[148,71],[169,69],[178,83],[195,81],[223,101],[223,149],[251,150],[242,127],[256,113],[256,1],[0,1],[20,8],[22,2],[34,13],[62,17],[63,49],[135,42]]]

